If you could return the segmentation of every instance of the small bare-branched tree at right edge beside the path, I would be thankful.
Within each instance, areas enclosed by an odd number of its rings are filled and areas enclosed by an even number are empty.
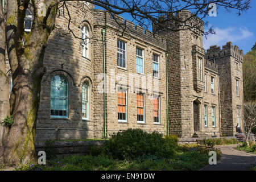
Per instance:
[[[251,130],[256,127],[256,102],[246,102],[242,106],[244,116],[242,122],[245,126],[245,140],[249,146]]]

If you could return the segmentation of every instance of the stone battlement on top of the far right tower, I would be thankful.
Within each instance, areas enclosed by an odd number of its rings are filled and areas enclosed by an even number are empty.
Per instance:
[[[243,59],[243,51],[240,50],[238,46],[233,46],[232,42],[227,42],[226,45],[222,46],[222,49],[217,45],[210,46],[207,49],[206,57],[208,60],[212,60],[223,57],[223,56],[233,56],[238,61]]]

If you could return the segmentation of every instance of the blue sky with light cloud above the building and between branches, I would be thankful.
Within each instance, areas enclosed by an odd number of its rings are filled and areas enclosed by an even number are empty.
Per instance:
[[[208,21],[208,27],[213,26],[216,34],[203,38],[203,46],[208,49],[210,46],[224,46],[231,41],[243,50],[243,53],[250,51],[256,42],[256,0],[250,3],[251,9],[238,16],[236,10],[226,12],[225,9],[217,9],[217,16],[207,16],[204,21]],[[102,9],[97,7],[96,9]],[[123,18],[133,20],[129,14],[122,14]],[[134,22],[134,21],[133,21]],[[135,23],[135,22],[134,22]],[[136,24],[136,23],[135,23]],[[150,27],[150,31],[152,28]]]

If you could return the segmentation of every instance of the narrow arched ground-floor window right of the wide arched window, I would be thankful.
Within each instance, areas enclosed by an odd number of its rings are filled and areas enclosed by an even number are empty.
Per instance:
[[[89,119],[89,84],[82,84],[82,119]]]

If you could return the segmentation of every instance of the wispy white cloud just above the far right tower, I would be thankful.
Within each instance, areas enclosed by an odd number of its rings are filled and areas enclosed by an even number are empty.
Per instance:
[[[250,32],[246,27],[228,27],[228,28],[213,28],[216,34],[210,34],[207,39],[203,39],[203,45],[205,49],[210,46],[217,45],[223,46],[226,42],[237,42],[253,36],[253,32]]]

